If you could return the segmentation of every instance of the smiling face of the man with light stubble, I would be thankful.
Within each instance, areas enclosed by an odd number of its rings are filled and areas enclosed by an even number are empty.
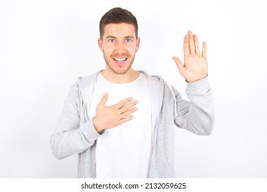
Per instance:
[[[125,74],[135,60],[140,39],[135,36],[135,27],[128,23],[111,23],[104,27],[102,39],[98,39],[104,53],[106,70],[119,75]]]

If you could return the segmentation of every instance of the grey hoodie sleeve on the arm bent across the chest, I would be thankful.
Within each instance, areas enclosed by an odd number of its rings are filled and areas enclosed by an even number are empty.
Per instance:
[[[78,84],[73,84],[50,137],[51,151],[58,159],[84,152],[99,136],[92,120],[80,123],[81,100]]]

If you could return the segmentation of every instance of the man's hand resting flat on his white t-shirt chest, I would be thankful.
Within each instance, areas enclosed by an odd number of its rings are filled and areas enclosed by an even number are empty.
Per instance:
[[[133,119],[132,113],[137,110],[134,106],[138,101],[132,101],[132,98],[127,98],[113,106],[105,106],[108,100],[108,94],[104,94],[104,97],[97,106],[96,115],[93,118],[93,125],[95,130],[100,132],[104,129],[114,128],[121,123],[130,121]]]

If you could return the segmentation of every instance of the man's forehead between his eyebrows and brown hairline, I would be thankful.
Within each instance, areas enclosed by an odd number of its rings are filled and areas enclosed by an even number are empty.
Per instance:
[[[104,38],[106,36],[135,36],[135,27],[128,23],[110,23],[104,27]]]

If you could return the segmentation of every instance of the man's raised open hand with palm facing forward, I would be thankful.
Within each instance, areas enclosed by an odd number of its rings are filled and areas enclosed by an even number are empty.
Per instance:
[[[187,80],[187,82],[196,82],[197,80],[207,77],[207,43],[203,43],[202,53],[200,55],[198,36],[193,35],[192,32],[189,31],[183,42],[183,52],[184,64],[176,57],[173,57],[173,60],[185,80]]]

